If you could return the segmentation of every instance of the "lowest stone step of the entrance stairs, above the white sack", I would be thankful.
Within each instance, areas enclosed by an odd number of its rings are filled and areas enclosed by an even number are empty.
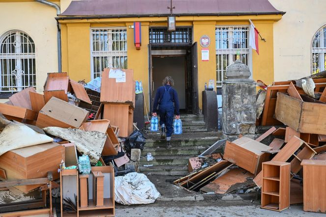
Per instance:
[[[140,172],[144,174],[151,173],[152,175],[170,175],[170,176],[185,176],[188,174],[188,166],[183,165],[153,165],[143,166],[148,164],[140,164]]]

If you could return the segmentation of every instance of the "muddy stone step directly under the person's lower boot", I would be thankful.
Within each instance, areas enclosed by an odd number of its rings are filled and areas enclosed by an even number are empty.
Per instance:
[[[162,155],[200,155],[203,151],[209,148],[209,145],[206,146],[173,146],[172,148],[165,148],[165,145],[162,147],[146,147],[142,150],[141,156],[146,156],[147,153],[152,153],[155,156]]]

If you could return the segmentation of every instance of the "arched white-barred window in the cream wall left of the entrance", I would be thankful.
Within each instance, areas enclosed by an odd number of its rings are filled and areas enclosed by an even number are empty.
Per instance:
[[[35,45],[23,31],[0,38],[0,92],[17,92],[36,86]]]

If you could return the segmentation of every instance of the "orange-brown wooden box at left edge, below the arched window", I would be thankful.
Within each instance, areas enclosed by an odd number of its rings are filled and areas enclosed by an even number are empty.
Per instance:
[[[30,109],[0,103],[0,113],[11,117],[22,118],[27,120],[35,120],[37,113]]]

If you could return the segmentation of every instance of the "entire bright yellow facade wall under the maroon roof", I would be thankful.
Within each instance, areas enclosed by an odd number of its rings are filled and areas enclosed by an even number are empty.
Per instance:
[[[267,42],[259,41],[260,55],[253,52],[253,79],[266,83],[273,81],[273,23],[281,19],[281,15],[261,16],[221,16],[221,17],[177,17],[177,26],[193,25],[193,41],[199,41],[204,34],[211,38],[209,46],[210,60],[201,60],[201,46],[197,45],[198,55],[198,103],[202,108],[201,92],[205,82],[216,80],[216,45],[215,27],[217,25],[249,25],[251,19]],[[134,22],[142,22],[141,49],[134,45]],[[134,69],[134,79],[143,82],[147,106],[149,106],[148,78],[148,43],[149,26],[166,26],[165,17],[111,18],[91,20],[61,20],[62,25],[62,68],[74,80],[90,80],[90,27],[123,27],[127,26],[128,68]]]

